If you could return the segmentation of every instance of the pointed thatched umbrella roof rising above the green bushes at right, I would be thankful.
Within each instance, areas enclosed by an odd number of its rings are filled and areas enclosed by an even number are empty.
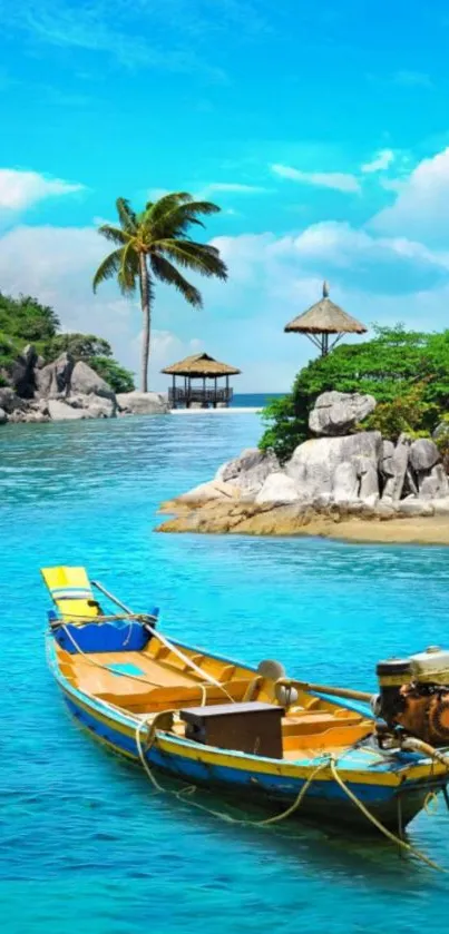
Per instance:
[[[329,354],[343,334],[365,334],[368,328],[360,321],[348,315],[331,302],[329,297],[329,285],[323,283],[323,297],[302,315],[293,318],[286,324],[284,331],[294,331],[296,334],[305,334],[320,350],[321,356]],[[332,340],[332,335],[334,335]],[[331,337],[331,341],[330,341]]]

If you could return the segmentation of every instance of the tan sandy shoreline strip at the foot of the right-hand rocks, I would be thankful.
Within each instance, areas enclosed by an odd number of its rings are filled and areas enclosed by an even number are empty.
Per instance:
[[[248,504],[223,502],[163,503],[159,512],[169,514],[156,532],[238,534],[276,538],[328,538],[360,544],[449,545],[449,517],[357,517],[343,510],[328,513],[290,507],[254,510]]]

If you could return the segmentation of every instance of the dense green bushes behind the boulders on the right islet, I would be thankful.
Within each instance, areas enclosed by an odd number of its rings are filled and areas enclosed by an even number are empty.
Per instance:
[[[265,409],[261,448],[274,448],[285,461],[309,436],[309,412],[329,390],[374,396],[378,407],[363,427],[378,427],[392,440],[401,431],[429,433],[449,412],[449,331],[375,327],[372,341],[342,344],[312,361],[292,392]]]

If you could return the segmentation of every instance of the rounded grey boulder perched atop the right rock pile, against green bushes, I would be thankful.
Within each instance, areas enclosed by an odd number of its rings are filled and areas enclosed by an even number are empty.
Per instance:
[[[309,415],[309,427],[319,435],[344,435],[375,409],[372,395],[325,392]]]

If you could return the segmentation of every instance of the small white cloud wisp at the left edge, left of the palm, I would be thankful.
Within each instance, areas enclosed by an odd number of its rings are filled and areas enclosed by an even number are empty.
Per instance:
[[[0,169],[0,210],[23,210],[43,198],[82,191],[84,185],[46,178],[38,171]]]

